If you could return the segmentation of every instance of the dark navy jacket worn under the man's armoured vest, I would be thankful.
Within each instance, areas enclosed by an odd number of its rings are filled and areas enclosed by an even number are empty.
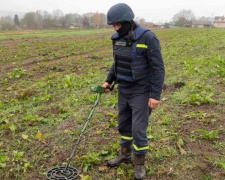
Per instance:
[[[128,36],[124,36],[123,38],[127,39]],[[150,76],[136,82],[118,81],[119,92],[124,94],[135,94],[150,91],[149,98],[160,100],[165,69],[159,40],[153,32],[147,31],[137,40],[137,43],[148,46],[147,49],[138,48],[137,53],[146,56],[150,66]],[[117,80],[117,77],[115,75],[115,67],[113,64],[106,82],[111,84],[115,80]]]

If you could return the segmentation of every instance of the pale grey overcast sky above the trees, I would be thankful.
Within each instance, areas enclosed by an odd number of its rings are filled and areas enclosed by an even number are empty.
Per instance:
[[[0,12],[29,12],[60,9],[66,13],[107,13],[116,3],[127,3],[135,17],[151,22],[169,22],[182,9],[191,9],[196,17],[225,15],[225,0],[0,0]]]

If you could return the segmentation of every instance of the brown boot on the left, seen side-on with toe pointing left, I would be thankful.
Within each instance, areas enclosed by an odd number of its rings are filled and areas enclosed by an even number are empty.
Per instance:
[[[111,167],[119,166],[121,163],[131,163],[131,148],[121,147],[120,155],[115,159],[108,161],[108,165]]]

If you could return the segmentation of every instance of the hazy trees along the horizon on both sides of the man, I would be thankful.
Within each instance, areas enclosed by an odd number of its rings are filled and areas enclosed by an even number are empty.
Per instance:
[[[193,21],[212,21],[211,17],[195,17],[192,10],[181,10],[176,13],[169,23],[164,23],[164,27],[184,27],[192,24]],[[144,18],[136,17],[135,21],[142,26],[148,28],[154,27],[154,23],[145,22]],[[151,24],[152,26],[149,26]],[[103,28],[108,27],[106,23],[106,14],[104,13],[78,13],[65,14],[57,9],[52,13],[38,10],[36,12],[28,12],[22,18],[15,15],[0,18],[0,30],[16,30],[16,29],[68,29],[68,28]]]

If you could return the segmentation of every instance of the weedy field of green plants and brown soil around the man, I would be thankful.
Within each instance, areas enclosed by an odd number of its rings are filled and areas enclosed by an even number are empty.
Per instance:
[[[149,121],[147,178],[223,179],[225,31],[153,31],[166,79]],[[88,85],[101,85],[113,62],[112,33],[0,34],[0,179],[44,179],[65,165],[95,101]],[[117,91],[102,95],[71,162],[83,179],[133,177],[130,164],[106,166],[119,153]]]

